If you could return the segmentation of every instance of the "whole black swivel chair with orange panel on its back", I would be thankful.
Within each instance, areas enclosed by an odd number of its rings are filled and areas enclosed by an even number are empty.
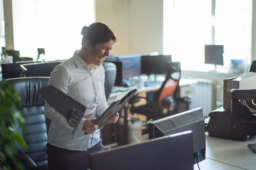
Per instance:
[[[160,119],[176,113],[176,96],[180,81],[180,62],[171,62],[167,65],[166,79],[161,87],[155,92],[151,93],[153,96],[144,98],[147,104],[134,106],[131,104],[131,113],[142,114],[147,117],[147,121],[151,119]],[[167,112],[164,113],[164,108]]]

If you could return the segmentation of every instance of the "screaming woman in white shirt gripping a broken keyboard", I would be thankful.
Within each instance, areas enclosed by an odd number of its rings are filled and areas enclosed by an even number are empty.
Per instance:
[[[49,85],[84,104],[86,111],[73,133],[74,128],[66,119],[45,103],[45,115],[52,120],[46,145],[49,170],[89,169],[89,153],[103,150],[98,125],[93,121],[96,114],[101,115],[108,107],[102,63],[109,56],[116,37],[107,25],[99,22],[85,26],[81,34],[81,50],[54,68]],[[115,123],[118,116],[116,113],[109,122]]]

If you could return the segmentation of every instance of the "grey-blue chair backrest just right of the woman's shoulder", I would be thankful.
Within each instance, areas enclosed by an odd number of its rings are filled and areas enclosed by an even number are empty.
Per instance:
[[[108,99],[111,89],[115,84],[116,80],[116,65],[111,62],[104,62],[103,67],[105,69],[105,95]]]

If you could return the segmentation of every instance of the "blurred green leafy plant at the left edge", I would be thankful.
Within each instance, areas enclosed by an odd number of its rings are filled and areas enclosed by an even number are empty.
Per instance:
[[[15,158],[18,153],[15,144],[23,148],[27,145],[15,130],[18,124],[24,130],[21,99],[10,83],[0,81],[0,170],[11,170],[13,166],[22,169]]]

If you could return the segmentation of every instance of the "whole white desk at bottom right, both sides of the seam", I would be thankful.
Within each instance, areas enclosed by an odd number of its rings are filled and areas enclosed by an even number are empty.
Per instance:
[[[256,153],[248,146],[256,136],[237,141],[206,136],[206,159],[199,163],[201,170],[256,170]],[[194,165],[194,170],[198,170]]]

